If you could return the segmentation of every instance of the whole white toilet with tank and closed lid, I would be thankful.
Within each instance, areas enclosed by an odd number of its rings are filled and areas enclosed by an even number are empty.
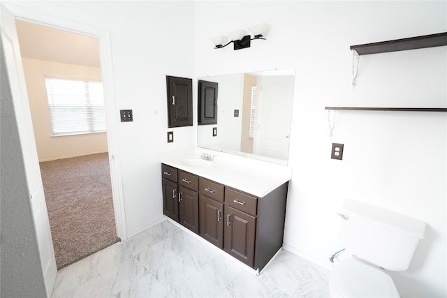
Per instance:
[[[346,200],[340,242],[349,255],[335,261],[330,297],[400,297],[383,269],[406,270],[425,233],[425,223],[396,212]]]

